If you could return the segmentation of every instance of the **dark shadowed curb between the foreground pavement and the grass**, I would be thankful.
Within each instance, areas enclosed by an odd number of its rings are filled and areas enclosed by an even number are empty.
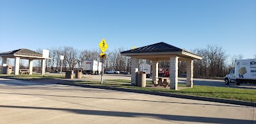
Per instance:
[[[174,93],[164,93],[159,91],[145,91],[145,90],[138,90],[138,89],[127,89],[127,88],[116,88],[113,86],[92,86],[87,84],[76,84],[70,82],[60,82],[58,84],[68,85],[68,86],[80,86],[83,88],[99,88],[99,89],[110,89],[116,91],[126,91],[126,92],[133,92],[133,93],[143,93],[148,95],[159,95],[163,97],[175,97],[175,98],[186,98],[191,100],[202,100],[202,101],[209,101],[209,102],[219,102],[224,104],[235,104],[235,105],[245,105],[250,107],[255,107],[256,102],[246,102],[246,101],[239,101],[239,100],[227,100],[223,98],[211,98],[211,97],[198,97],[198,96],[191,96],[191,95],[179,95]]]

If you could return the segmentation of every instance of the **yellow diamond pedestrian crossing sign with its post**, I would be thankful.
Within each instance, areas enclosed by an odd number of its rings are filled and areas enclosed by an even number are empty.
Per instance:
[[[102,63],[101,65],[101,77],[100,77],[100,84],[102,83],[102,75],[103,75],[103,63],[104,63],[104,59],[107,58],[107,54],[104,54],[104,52],[106,51],[106,49],[108,49],[108,44],[105,41],[105,39],[102,39],[102,41],[99,43],[99,47],[100,50],[102,51],[102,53],[100,53],[100,61]]]

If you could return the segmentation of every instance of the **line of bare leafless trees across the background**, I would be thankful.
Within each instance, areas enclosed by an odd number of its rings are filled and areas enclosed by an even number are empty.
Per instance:
[[[85,59],[100,61],[100,49],[77,50],[74,47],[51,47],[48,49],[51,59],[47,59],[45,66],[47,72],[60,71],[61,59],[63,59],[63,72],[83,68]],[[114,50],[107,50],[107,59],[104,61],[104,70],[120,70],[131,72],[131,58],[122,56],[120,52],[128,50],[124,47]],[[42,53],[42,49],[36,52]],[[195,60],[193,63],[194,75],[197,77],[224,77],[235,67],[236,59],[243,59],[243,55],[230,56],[225,53],[223,47],[218,45],[207,45],[205,48],[191,50],[195,54],[202,56],[202,60]],[[255,54],[256,58],[256,54]],[[151,65],[152,61],[140,59],[139,63]],[[41,61],[35,60],[34,71],[40,71]],[[21,65],[24,67],[24,65]],[[159,61],[159,68],[169,68],[169,61]],[[179,74],[186,74],[186,61],[179,61]]]

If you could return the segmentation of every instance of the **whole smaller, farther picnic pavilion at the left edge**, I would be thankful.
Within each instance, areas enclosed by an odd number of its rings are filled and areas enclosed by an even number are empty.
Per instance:
[[[45,74],[45,58],[43,58],[43,54],[35,52],[29,49],[17,49],[8,52],[0,53],[0,57],[2,58],[2,72],[3,66],[6,66],[7,58],[14,58],[14,74],[19,75],[20,69],[20,59],[28,59],[29,60],[29,75],[33,72],[33,60],[41,59],[41,74]]]

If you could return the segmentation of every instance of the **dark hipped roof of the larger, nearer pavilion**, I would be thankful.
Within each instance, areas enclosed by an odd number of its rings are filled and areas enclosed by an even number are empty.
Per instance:
[[[159,42],[152,45],[147,45],[145,47],[126,50],[121,52],[121,54],[144,53],[144,52],[182,52],[182,51],[186,51],[186,50],[180,49],[178,47],[174,47],[173,45],[170,45],[164,42]],[[191,54],[194,54],[194,53],[191,53]]]

